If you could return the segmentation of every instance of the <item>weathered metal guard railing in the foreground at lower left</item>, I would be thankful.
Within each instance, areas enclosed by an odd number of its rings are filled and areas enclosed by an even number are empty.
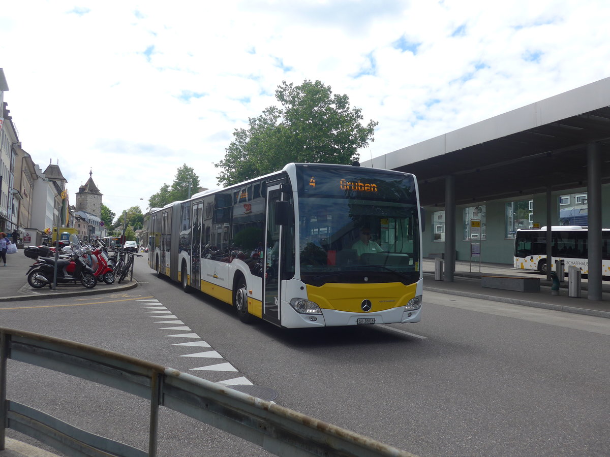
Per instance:
[[[45,367],[150,400],[148,452],[7,400],[7,359]],[[397,448],[224,386],[117,352],[0,327],[0,450],[12,428],[74,456],[157,455],[159,406],[290,456],[412,456]]]

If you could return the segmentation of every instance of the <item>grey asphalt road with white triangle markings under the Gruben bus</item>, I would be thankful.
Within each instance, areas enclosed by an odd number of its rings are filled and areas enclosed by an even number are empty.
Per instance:
[[[144,258],[135,277],[142,285],[120,294],[4,303],[0,322],[265,386],[282,406],[420,456],[610,454],[610,319],[426,292],[418,324],[282,330],[242,324],[230,306],[157,279]],[[194,341],[209,347],[181,344]],[[146,448],[144,400],[9,363],[9,398]],[[159,448],[266,455],[167,411]]]

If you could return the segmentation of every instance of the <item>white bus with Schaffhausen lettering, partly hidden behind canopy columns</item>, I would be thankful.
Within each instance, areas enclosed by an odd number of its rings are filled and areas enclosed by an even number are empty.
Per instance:
[[[589,274],[588,230],[578,225],[551,227],[551,269],[556,261],[564,260],[565,271],[570,265]],[[610,229],[601,230],[601,274],[610,275]],[[547,274],[547,228],[517,230],[513,266],[520,270],[538,270]]]

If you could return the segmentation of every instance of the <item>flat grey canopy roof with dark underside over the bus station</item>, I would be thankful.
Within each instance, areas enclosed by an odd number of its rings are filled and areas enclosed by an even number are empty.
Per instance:
[[[443,207],[447,175],[456,205],[584,187],[590,143],[600,144],[601,184],[610,183],[610,77],[362,165],[415,174],[421,204]]]

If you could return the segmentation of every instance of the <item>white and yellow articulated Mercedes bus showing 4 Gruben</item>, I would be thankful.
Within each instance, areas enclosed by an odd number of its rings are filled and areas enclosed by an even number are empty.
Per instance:
[[[421,211],[412,174],[290,163],[151,210],[149,266],[243,322],[419,322]]]

